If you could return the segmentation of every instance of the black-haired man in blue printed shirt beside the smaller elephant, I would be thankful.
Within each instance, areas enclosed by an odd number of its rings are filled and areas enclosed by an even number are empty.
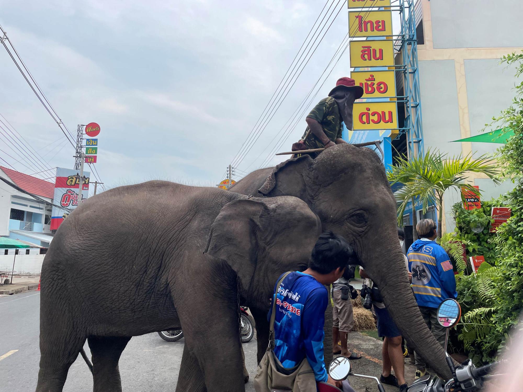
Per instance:
[[[274,353],[283,367],[292,368],[307,358],[316,382],[338,388],[342,383],[328,376],[323,362],[323,326],[330,285],[342,276],[348,264],[354,264],[354,252],[347,241],[332,232],[316,241],[309,268],[292,272],[275,286]],[[269,311],[268,319],[272,313]]]

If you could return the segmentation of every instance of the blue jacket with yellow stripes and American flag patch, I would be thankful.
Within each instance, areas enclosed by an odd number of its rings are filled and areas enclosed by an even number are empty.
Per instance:
[[[418,239],[407,251],[412,289],[419,306],[437,308],[447,298],[456,298],[456,278],[447,252],[435,241]]]

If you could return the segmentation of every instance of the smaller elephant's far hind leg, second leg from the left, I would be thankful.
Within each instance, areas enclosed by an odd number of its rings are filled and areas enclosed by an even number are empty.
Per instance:
[[[93,392],[121,392],[118,361],[131,337],[89,336],[93,354]]]

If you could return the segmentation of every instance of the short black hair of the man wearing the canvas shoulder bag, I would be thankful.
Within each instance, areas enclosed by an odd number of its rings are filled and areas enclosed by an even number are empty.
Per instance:
[[[331,231],[322,233],[312,249],[309,268],[322,273],[331,273],[337,268],[354,264],[354,251],[345,238]]]

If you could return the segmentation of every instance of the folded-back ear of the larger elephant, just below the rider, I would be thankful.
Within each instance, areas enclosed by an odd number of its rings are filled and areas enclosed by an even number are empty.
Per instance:
[[[304,200],[306,194],[305,179],[314,164],[310,155],[287,159],[277,165],[267,177],[258,192],[265,196],[290,194]]]

